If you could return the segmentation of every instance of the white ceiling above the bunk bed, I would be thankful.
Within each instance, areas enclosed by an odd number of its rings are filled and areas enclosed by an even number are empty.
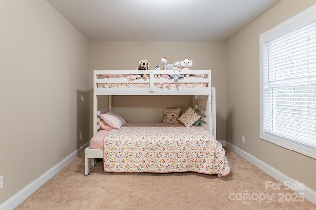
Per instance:
[[[225,41],[280,0],[47,0],[90,41]]]

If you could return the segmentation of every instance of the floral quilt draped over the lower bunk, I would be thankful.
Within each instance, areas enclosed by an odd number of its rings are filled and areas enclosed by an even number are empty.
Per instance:
[[[222,145],[201,126],[127,123],[103,143],[105,172],[230,172]]]

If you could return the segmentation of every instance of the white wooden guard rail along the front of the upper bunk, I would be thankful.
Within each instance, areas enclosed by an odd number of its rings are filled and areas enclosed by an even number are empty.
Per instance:
[[[102,78],[99,75],[123,75],[124,77],[118,78]],[[128,79],[126,78],[129,74],[147,74],[149,78],[147,79]],[[170,79],[170,84],[177,83],[206,83],[206,87],[155,87],[155,84],[160,84],[162,78],[155,78],[155,75],[158,74],[191,74],[191,75],[201,75],[200,78],[180,78],[175,81],[174,79]],[[167,79],[163,79],[164,83],[167,83]],[[181,70],[181,71],[173,71],[173,70],[94,70],[93,75],[93,91],[96,95],[206,95],[211,91],[211,70]],[[111,87],[103,88],[98,87],[98,84],[119,84],[119,83],[142,83],[147,84],[149,88],[121,88]]]

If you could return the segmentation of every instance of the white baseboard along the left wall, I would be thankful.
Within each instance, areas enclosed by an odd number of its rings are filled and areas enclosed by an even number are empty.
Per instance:
[[[38,190],[44,183],[50,180],[53,176],[55,176],[58,172],[60,172],[65,166],[67,166],[71,161],[73,161],[80,153],[82,153],[84,148],[86,148],[89,145],[89,143],[90,141],[85,143],[78,150],[68,155],[65,159],[60,161],[53,168],[49,169],[47,172],[41,175],[38,179],[31,182],[29,185],[24,187],[21,191],[19,191],[10,199],[8,199],[3,204],[1,204],[0,210],[13,210],[14,208],[16,208],[25,199],[27,199],[30,195],[32,195],[36,190]]]

